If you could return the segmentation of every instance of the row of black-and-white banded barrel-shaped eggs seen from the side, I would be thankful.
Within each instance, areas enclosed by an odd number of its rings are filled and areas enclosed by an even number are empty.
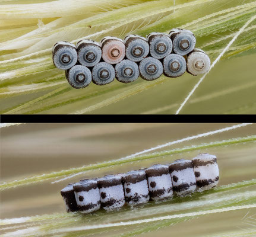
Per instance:
[[[125,204],[137,206],[148,201],[170,200],[194,191],[213,188],[219,182],[217,158],[208,153],[190,160],[152,165],[126,174],[80,180],[61,190],[67,212],[91,213],[100,207],[118,210]]]

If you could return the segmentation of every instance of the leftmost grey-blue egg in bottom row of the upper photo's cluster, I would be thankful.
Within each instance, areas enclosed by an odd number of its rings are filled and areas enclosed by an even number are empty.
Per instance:
[[[66,71],[66,78],[71,87],[84,88],[91,83],[91,71],[86,66],[75,65]]]

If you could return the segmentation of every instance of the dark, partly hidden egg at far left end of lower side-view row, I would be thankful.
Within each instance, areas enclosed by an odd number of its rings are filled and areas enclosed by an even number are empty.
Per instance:
[[[75,200],[75,194],[73,184],[68,184],[61,190],[61,196],[63,197],[67,212],[77,212],[77,201]]]

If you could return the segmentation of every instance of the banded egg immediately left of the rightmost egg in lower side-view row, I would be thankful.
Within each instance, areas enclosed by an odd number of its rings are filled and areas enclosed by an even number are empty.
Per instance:
[[[186,196],[197,188],[192,162],[178,159],[169,165],[173,191],[178,196]]]

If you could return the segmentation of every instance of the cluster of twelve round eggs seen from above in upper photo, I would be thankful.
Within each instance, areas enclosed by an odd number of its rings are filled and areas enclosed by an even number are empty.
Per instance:
[[[104,37],[100,43],[80,40],[75,46],[59,41],[53,46],[53,64],[66,71],[69,84],[87,87],[92,81],[106,85],[115,78],[129,83],[139,76],[153,81],[162,74],[170,78],[187,71],[194,76],[206,73],[210,59],[195,49],[195,36],[189,30],[175,28],[169,34],[150,33],[147,38],[129,34],[124,40]]]

